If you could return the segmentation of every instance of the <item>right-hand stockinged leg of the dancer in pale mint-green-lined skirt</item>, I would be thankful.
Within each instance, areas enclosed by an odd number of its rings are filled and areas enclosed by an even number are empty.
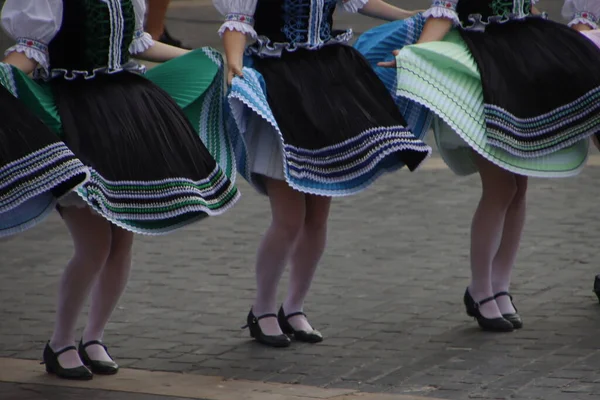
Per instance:
[[[502,242],[492,263],[492,289],[494,293],[508,292],[509,290],[510,276],[517,259],[521,234],[525,226],[527,177],[516,176],[515,179],[517,193],[506,212]],[[498,297],[496,303],[502,314],[516,312],[508,296]]]

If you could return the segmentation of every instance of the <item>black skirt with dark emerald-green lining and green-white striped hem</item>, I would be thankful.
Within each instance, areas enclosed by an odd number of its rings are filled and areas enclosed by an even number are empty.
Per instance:
[[[124,229],[171,232],[219,215],[239,198],[223,129],[223,63],[198,49],[140,76],[130,72],[38,83],[24,101],[90,171],[77,194]],[[221,164],[217,162],[219,160]],[[62,206],[79,205],[72,198]]]

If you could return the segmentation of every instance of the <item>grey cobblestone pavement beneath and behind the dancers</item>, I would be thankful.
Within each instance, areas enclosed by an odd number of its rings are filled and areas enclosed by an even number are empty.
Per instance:
[[[173,34],[217,45],[215,13],[184,3],[172,9]],[[546,4],[556,14],[559,2]],[[202,35],[191,35],[192,27]],[[306,305],[322,344],[267,349],[239,329],[269,215],[265,198],[240,182],[243,199],[225,216],[167,237],[138,237],[127,293],[106,332],[111,353],[130,368],[365,392],[600,399],[600,306],[591,292],[600,272],[600,169],[531,181],[512,287],[525,328],[499,335],[480,332],[461,304],[477,178],[430,163],[334,201],[329,247]],[[0,357],[40,357],[70,251],[56,215],[0,243]],[[78,397],[56,393],[40,398]]]

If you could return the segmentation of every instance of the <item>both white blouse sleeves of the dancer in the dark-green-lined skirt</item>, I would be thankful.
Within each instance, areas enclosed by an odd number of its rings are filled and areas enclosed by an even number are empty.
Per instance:
[[[107,0],[98,0],[107,1]],[[108,0],[110,1],[110,0]],[[132,0],[135,10],[135,35],[129,51],[139,54],[154,45],[150,34],[144,32],[145,0]],[[6,51],[24,53],[49,73],[48,44],[61,28],[63,0],[6,0],[2,7],[2,27],[16,44]]]

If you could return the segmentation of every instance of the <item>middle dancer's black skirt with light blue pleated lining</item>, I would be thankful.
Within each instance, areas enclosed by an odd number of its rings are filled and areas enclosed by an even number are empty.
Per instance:
[[[431,153],[350,46],[248,59],[228,99],[238,170],[262,193],[268,176],[305,193],[350,195]]]

